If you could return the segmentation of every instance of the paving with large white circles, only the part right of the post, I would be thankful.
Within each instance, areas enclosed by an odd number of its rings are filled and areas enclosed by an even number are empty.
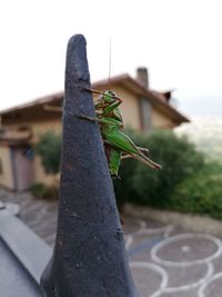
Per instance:
[[[125,225],[130,264],[143,297],[222,296],[221,239],[153,221]]]

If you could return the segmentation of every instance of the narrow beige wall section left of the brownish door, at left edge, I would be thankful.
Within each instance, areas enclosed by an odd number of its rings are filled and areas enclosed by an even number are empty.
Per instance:
[[[0,147],[0,160],[2,167],[2,172],[0,174],[0,184],[4,187],[13,189],[13,175],[9,147]]]

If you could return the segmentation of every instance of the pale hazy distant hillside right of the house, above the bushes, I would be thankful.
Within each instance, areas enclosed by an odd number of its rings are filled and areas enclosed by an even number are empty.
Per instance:
[[[174,131],[188,136],[210,158],[222,161],[222,116],[194,118]]]

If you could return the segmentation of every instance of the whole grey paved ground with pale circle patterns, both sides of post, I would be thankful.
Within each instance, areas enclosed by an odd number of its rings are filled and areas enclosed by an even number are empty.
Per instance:
[[[0,189],[0,200],[20,205],[20,218],[53,246],[57,201]],[[124,219],[125,245],[142,297],[222,297],[222,241],[157,221]]]

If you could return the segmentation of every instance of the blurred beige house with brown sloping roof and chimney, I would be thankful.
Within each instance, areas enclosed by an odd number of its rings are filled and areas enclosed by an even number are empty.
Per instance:
[[[123,99],[120,107],[125,126],[140,131],[174,128],[189,119],[171,105],[171,91],[158,92],[149,88],[148,70],[138,69],[138,77],[121,75],[92,83],[97,90],[113,89]],[[33,182],[51,184],[38,156],[28,158],[39,137],[49,130],[61,131],[63,92],[50,95],[27,105],[0,111],[0,184],[23,190]]]

